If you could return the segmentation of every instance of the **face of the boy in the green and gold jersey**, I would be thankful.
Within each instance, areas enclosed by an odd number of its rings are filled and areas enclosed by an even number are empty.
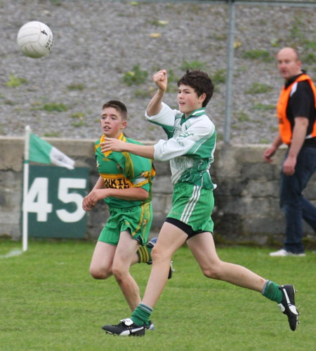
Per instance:
[[[101,119],[103,134],[108,138],[119,138],[121,131],[126,127],[126,119],[122,119],[121,114],[114,107],[105,107]]]

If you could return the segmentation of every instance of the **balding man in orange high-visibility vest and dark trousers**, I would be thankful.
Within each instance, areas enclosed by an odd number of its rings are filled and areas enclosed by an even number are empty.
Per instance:
[[[294,48],[282,48],[277,54],[277,65],[285,79],[277,104],[279,134],[265,150],[264,157],[270,162],[280,145],[288,145],[279,192],[286,219],[286,239],[283,248],[270,256],[305,256],[303,219],[316,232],[316,206],[302,194],[316,171],[316,88],[301,69]]]

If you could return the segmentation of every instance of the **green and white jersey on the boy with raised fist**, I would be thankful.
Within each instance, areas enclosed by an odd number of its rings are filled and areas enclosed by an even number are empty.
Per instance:
[[[154,145],[154,159],[170,160],[171,181],[190,183],[213,189],[209,168],[216,147],[216,130],[205,114],[205,109],[195,110],[189,117],[162,102],[159,114],[145,117],[164,128],[168,140],[159,140]]]

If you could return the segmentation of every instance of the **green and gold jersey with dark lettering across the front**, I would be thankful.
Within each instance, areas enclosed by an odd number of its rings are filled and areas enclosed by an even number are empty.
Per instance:
[[[126,138],[123,133],[119,140],[125,143],[140,144],[136,140]],[[144,201],[128,201],[107,197],[105,203],[110,207],[126,208],[140,206],[152,199],[152,179],[155,176],[151,159],[140,157],[129,152],[101,152],[100,143],[105,141],[105,136],[95,143],[96,164],[105,188],[128,189],[130,187],[143,187],[149,192],[149,197]]]

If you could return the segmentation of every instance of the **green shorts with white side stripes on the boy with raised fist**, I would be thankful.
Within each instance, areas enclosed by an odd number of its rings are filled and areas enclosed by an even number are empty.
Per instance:
[[[173,190],[172,208],[167,218],[176,218],[195,231],[213,232],[213,207],[213,190],[189,183],[178,183]]]

